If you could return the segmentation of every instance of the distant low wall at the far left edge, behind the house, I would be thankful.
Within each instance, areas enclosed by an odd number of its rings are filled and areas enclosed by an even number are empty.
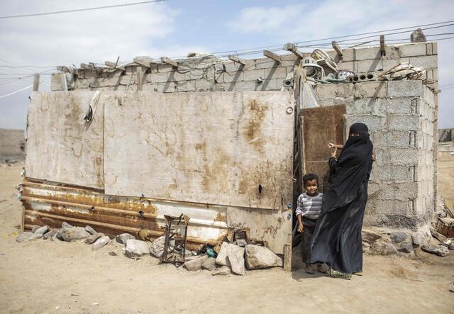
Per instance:
[[[0,161],[21,160],[26,155],[23,130],[0,129]]]

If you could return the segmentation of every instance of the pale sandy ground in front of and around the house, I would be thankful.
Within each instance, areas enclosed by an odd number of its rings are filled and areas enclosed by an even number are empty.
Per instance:
[[[211,276],[128,259],[115,244],[95,252],[83,242],[17,243],[21,167],[0,166],[0,313],[454,313],[453,251],[365,255],[364,276],[346,281],[300,266]],[[441,193],[454,198],[454,158],[439,173],[451,184]]]

